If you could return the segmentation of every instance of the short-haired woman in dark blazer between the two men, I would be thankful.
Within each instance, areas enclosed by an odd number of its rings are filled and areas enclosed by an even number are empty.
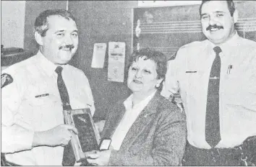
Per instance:
[[[132,94],[108,112],[102,137],[111,148],[87,155],[95,166],[179,166],[187,138],[184,112],[159,90],[166,56],[142,48],[132,54],[127,86]]]

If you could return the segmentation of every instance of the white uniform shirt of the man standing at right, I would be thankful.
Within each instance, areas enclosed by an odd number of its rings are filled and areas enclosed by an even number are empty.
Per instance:
[[[256,42],[236,33],[219,46],[221,141],[216,148],[231,148],[256,135]],[[205,141],[205,112],[214,47],[205,40],[180,48],[168,62],[161,92],[168,98],[180,91],[187,114],[187,139],[197,148],[210,148]]]

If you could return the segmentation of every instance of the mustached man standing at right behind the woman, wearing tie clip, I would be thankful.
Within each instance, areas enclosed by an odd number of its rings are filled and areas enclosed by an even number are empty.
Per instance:
[[[256,135],[256,42],[237,35],[233,1],[202,1],[208,40],[184,45],[168,62],[161,94],[178,93],[187,115],[184,166],[237,166]],[[251,159],[252,160],[252,159]]]

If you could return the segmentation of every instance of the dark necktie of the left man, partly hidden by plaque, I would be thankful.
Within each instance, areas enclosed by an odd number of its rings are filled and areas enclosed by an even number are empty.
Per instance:
[[[69,94],[67,92],[67,87],[63,81],[61,72],[63,68],[58,66],[55,72],[58,74],[57,84],[59,89],[59,95],[61,96],[61,102],[63,109],[72,109],[69,103]],[[64,147],[62,166],[74,166],[75,157],[72,149],[72,144],[69,141],[69,144]]]

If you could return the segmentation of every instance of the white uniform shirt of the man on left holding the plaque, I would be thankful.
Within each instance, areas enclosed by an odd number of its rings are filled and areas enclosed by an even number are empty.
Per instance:
[[[93,114],[95,107],[88,78],[77,68],[62,67],[72,109],[90,107]],[[8,153],[7,161],[23,166],[61,166],[63,147],[32,148],[35,131],[64,123],[55,69],[56,65],[39,51],[2,71],[13,78],[12,84],[1,89],[1,151]]]

